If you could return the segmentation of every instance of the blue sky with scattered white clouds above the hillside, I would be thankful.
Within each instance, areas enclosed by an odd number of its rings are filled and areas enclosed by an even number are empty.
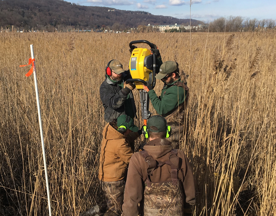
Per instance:
[[[86,6],[104,6],[120,10],[147,11],[153,15],[190,18],[190,1],[184,0],[66,0]],[[219,17],[276,20],[275,0],[192,0],[191,18],[210,22]]]

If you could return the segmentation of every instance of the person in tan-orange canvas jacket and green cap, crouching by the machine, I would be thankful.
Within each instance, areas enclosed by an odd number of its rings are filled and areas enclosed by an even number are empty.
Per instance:
[[[141,134],[142,131],[127,115],[106,124],[103,130],[99,181],[107,201],[105,216],[120,216],[122,213],[128,163],[134,153],[134,146],[130,143]]]

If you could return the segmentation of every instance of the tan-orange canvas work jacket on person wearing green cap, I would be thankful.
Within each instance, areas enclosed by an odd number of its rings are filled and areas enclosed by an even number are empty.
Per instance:
[[[108,123],[103,130],[99,165],[99,179],[104,182],[122,180],[133,154],[130,143],[139,137],[137,132],[125,135]]]

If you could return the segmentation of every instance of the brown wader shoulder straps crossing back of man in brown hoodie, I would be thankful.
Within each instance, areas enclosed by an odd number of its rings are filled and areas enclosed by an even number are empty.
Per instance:
[[[160,166],[163,166],[164,164],[171,166],[172,184],[173,185],[178,184],[179,157],[177,156],[177,149],[171,150],[169,160],[165,162],[162,162],[162,161],[156,162],[156,160],[154,160],[153,157],[149,155],[146,150],[143,150],[140,153],[144,157],[145,162],[148,163],[148,169],[147,169],[148,176],[146,180],[148,187],[151,187],[151,184],[150,184],[151,181],[149,179],[149,176],[152,176],[153,170],[156,168],[156,166],[160,167]],[[177,164],[177,166],[175,164]]]

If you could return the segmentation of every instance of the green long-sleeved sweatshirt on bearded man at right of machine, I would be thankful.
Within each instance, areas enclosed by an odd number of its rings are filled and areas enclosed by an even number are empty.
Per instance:
[[[159,115],[166,117],[172,110],[185,102],[187,91],[184,88],[177,86],[176,82],[182,82],[179,78],[175,82],[165,85],[162,89],[161,96],[158,97],[152,89],[148,91],[148,96],[151,100],[153,108]]]

